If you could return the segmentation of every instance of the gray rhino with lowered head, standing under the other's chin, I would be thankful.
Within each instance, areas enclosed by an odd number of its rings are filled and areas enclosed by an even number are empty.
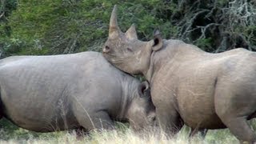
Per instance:
[[[0,60],[0,118],[37,132],[134,130],[154,121],[147,82],[116,69],[96,52]]]

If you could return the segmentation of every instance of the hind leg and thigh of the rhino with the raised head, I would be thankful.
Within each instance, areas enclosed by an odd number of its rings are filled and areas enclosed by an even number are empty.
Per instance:
[[[246,78],[219,78],[214,94],[214,108],[222,123],[240,142],[255,143],[256,134],[250,128],[247,118],[253,117],[256,110],[256,90],[253,80],[246,82]]]

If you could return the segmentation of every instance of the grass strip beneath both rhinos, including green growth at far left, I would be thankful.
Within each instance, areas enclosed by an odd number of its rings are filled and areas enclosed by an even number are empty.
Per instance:
[[[117,130],[93,131],[80,141],[76,139],[74,133],[69,134],[67,131],[35,133],[18,128],[4,119],[0,121],[0,127],[0,143],[238,143],[237,138],[230,134],[227,129],[208,130],[206,138],[202,138],[199,134],[196,134],[193,138],[188,138],[190,128],[187,126],[184,126],[173,138],[166,138],[164,134],[156,135],[150,132],[134,134],[127,125],[118,124]]]

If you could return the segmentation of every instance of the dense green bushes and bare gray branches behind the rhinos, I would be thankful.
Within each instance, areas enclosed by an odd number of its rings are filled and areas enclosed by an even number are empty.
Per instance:
[[[236,47],[256,50],[254,0],[0,0],[0,58],[100,51],[114,4],[122,31],[135,23],[143,41],[159,29],[163,38],[212,53]],[[1,125],[27,134],[6,121]]]

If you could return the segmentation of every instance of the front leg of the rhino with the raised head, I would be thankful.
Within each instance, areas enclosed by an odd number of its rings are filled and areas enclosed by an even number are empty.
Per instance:
[[[179,114],[174,111],[174,109],[159,110],[157,108],[156,112],[159,125],[163,132],[165,132],[166,134],[174,135],[182,129],[184,122],[182,121],[182,118],[180,118]]]

